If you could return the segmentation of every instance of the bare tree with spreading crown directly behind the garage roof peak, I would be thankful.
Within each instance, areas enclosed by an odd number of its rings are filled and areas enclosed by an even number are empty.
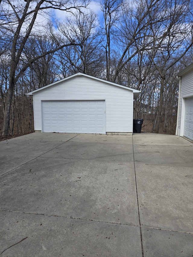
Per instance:
[[[74,13],[65,23],[59,24],[59,31],[69,40],[79,45],[72,45],[60,50],[61,61],[66,60],[72,73],[82,72],[99,77],[103,67],[103,52],[101,50],[101,32],[98,29],[96,14]]]

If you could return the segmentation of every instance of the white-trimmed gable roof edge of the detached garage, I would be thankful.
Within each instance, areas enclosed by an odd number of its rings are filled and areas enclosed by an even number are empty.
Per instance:
[[[56,81],[56,82],[54,82],[54,83],[52,83],[52,84],[49,84],[49,85],[47,85],[47,86],[43,86],[43,87],[41,87],[41,88],[39,88],[39,89],[33,90],[33,91],[27,93],[26,95],[28,95],[28,96],[29,96],[29,95],[33,95],[34,93],[39,92],[40,90],[44,90],[44,89],[46,89],[46,88],[48,88],[48,87],[50,87],[50,86],[54,86],[54,85],[56,85],[56,84],[58,84],[58,83],[61,83],[61,82],[63,82],[63,81],[69,80],[69,79],[71,79],[71,78],[73,78],[73,77],[77,77],[77,76],[88,77],[88,78],[91,78],[91,79],[95,79],[95,80],[101,81],[101,82],[103,82],[103,83],[110,84],[110,85],[112,85],[112,86],[118,86],[118,87],[121,87],[121,88],[124,88],[124,89],[131,90],[131,91],[133,92],[134,99],[137,99],[137,97],[139,96],[139,93],[141,92],[141,91],[139,91],[139,90],[137,90],[137,89],[133,89],[133,88],[130,88],[130,87],[127,87],[127,86],[122,86],[122,85],[119,85],[119,84],[116,84],[116,83],[113,83],[113,82],[110,82],[110,81],[107,81],[107,80],[102,80],[102,79],[99,79],[99,78],[96,78],[96,77],[93,77],[93,76],[90,76],[90,75],[87,75],[87,74],[84,74],[84,73],[79,72],[79,73],[76,73],[76,74],[71,75],[71,76],[69,76],[69,77],[66,77],[66,78],[64,78],[64,79],[62,79],[62,80],[58,80],[58,81]]]

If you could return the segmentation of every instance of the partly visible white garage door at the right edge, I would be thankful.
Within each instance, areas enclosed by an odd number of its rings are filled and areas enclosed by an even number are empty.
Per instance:
[[[186,99],[184,136],[193,140],[193,98]]]

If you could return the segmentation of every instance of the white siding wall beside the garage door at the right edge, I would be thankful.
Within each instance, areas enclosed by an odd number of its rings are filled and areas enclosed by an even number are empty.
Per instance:
[[[183,136],[184,132],[184,111],[186,98],[193,97],[193,71],[181,77],[181,90],[179,101],[178,136]]]

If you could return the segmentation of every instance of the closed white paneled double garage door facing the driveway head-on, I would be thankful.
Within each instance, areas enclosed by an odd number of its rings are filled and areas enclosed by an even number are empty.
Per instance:
[[[105,134],[105,101],[42,101],[43,132]]]

